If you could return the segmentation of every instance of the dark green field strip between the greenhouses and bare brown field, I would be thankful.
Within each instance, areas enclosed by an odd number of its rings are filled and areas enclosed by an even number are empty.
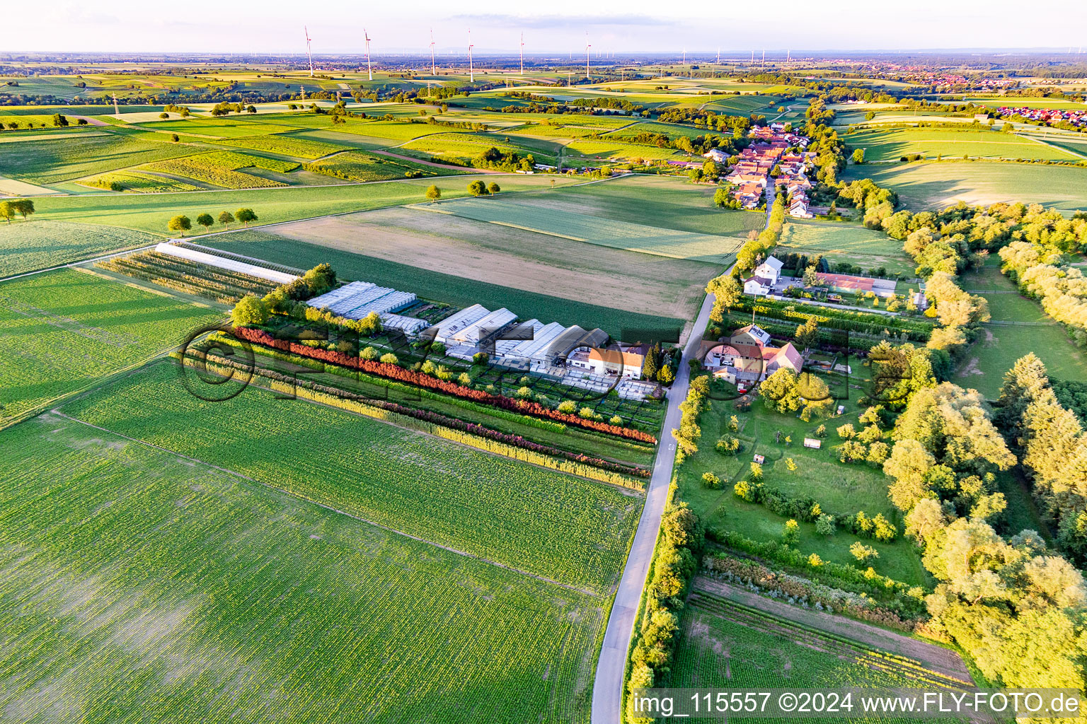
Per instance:
[[[470,306],[482,304],[489,309],[508,307],[523,319],[559,321],[580,325],[586,329],[599,327],[622,339],[623,330],[655,330],[679,334],[686,319],[661,314],[646,315],[611,306],[598,306],[580,300],[567,300],[487,281],[429,271],[414,264],[387,262],[373,256],[339,251],[330,246],[301,242],[266,232],[229,233],[201,239],[202,244],[235,254],[267,259],[275,264],[311,268],[316,264],[333,265],[341,279],[380,281],[423,299]]]

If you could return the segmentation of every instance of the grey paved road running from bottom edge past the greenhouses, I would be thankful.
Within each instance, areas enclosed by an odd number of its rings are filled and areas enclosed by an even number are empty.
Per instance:
[[[664,513],[664,503],[667,498],[669,483],[672,482],[672,467],[675,463],[676,445],[672,437],[672,429],[679,427],[679,403],[687,398],[687,385],[690,381],[690,368],[687,359],[694,358],[702,341],[701,330],[710,320],[710,309],[713,307],[713,295],[705,297],[702,308],[698,312],[695,327],[684,347],[684,360],[676,371],[675,382],[669,391],[669,409],[664,416],[664,428],[657,461],[653,463],[653,475],[646,491],[646,506],[638,521],[638,530],[634,534],[634,545],[623,569],[623,577],[615,592],[608,628],[604,631],[604,644],[600,650],[600,661],[597,663],[597,677],[592,685],[592,724],[619,724],[620,704],[623,700],[623,672],[626,668],[627,647],[634,633],[635,615],[641,600],[641,589],[646,585],[649,573],[649,562],[653,558],[653,547],[657,545],[657,534],[661,528],[661,516]]]

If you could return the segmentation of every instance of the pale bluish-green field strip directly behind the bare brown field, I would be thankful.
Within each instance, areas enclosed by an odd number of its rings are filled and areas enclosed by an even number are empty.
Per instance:
[[[564,204],[561,213],[548,206],[549,196],[522,202],[516,196],[499,199],[461,199],[416,208],[525,229],[538,233],[612,246],[670,258],[708,262],[726,266],[742,240],[733,237],[695,234],[659,226],[619,221],[592,216]],[[500,230],[499,230],[500,231]]]

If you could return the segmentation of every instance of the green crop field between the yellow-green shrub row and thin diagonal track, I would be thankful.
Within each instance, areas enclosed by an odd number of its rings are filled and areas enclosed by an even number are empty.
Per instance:
[[[602,594],[619,580],[638,496],[252,385],[207,403],[177,376],[163,360],[62,411],[563,584]]]

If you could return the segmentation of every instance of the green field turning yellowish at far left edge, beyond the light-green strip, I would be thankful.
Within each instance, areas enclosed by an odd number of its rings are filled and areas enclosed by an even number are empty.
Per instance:
[[[8,143],[0,153],[0,176],[32,183],[58,183],[192,153],[190,145],[161,143],[149,140],[148,136],[138,132],[82,135]]]

